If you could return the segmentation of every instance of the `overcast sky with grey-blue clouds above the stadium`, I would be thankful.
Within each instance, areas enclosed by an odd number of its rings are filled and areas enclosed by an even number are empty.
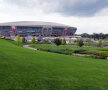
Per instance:
[[[108,33],[108,0],[0,0],[0,23],[46,21],[77,27],[77,34]]]

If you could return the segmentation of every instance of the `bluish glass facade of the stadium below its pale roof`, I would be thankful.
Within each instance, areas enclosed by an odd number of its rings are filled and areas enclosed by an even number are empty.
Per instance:
[[[76,28],[62,28],[62,27],[33,27],[33,26],[16,26],[16,33],[21,36],[72,36],[76,32]],[[13,36],[13,30],[11,26],[0,26],[0,36],[11,35]]]

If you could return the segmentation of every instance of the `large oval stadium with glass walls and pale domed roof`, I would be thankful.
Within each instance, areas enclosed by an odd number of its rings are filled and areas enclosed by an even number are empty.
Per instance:
[[[43,36],[43,37],[60,37],[73,36],[76,27],[64,24],[41,22],[41,21],[20,21],[0,23],[0,37],[16,36]]]

